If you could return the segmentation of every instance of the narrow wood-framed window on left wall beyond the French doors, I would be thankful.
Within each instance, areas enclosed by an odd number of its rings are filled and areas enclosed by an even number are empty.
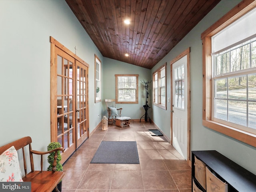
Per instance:
[[[101,101],[101,61],[95,55],[95,103]]]

